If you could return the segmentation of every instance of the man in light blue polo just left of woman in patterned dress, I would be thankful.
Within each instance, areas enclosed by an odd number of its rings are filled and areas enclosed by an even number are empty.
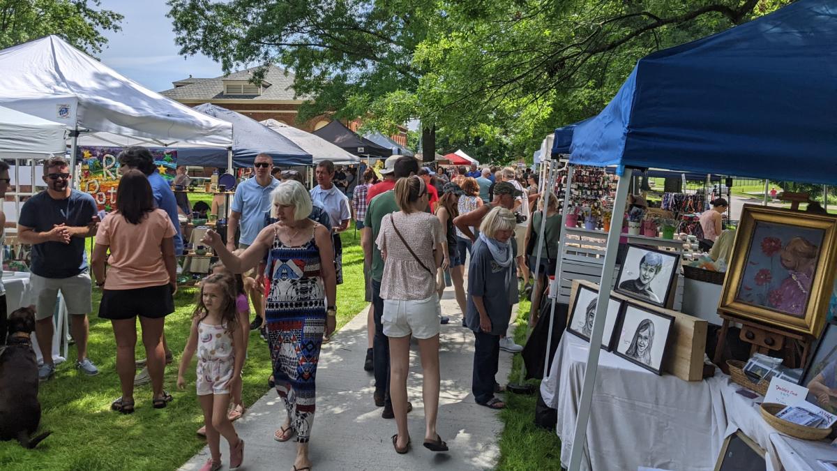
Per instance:
[[[246,179],[235,188],[233,204],[230,205],[227,221],[227,248],[235,250],[235,230],[241,227],[239,248],[245,249],[264,229],[264,213],[270,210],[270,192],[279,186],[273,178],[273,158],[266,153],[256,156],[253,163],[255,176]]]

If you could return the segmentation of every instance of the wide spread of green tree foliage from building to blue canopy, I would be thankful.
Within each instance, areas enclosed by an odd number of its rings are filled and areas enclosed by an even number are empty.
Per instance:
[[[600,111],[637,60],[792,0],[169,0],[182,54],[231,71],[283,65],[300,117],[392,132],[420,119],[425,153],[531,156]],[[257,78],[258,80],[258,78]],[[448,147],[450,146],[450,147]]]

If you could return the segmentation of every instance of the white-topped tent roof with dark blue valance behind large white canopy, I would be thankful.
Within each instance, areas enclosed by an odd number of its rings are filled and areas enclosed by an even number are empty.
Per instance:
[[[233,123],[233,166],[252,167],[259,153],[273,157],[277,166],[311,165],[311,154],[252,118],[211,103],[195,106],[203,114]],[[177,163],[201,167],[227,167],[225,148],[177,147]]]

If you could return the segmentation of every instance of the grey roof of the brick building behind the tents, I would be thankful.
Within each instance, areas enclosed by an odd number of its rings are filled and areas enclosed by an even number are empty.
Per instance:
[[[188,77],[183,80],[176,80],[173,83],[175,88],[161,91],[163,96],[167,96],[172,100],[252,100],[252,101],[302,101],[303,97],[295,97],[294,89],[291,85],[294,83],[295,75],[289,71],[270,65],[267,73],[264,74],[262,80],[261,95],[224,95],[223,82],[224,80],[250,80],[253,76],[254,70],[257,67],[250,69],[239,70],[230,75],[222,75],[212,79],[199,79]],[[185,85],[184,85],[185,84]],[[179,86],[178,86],[179,85]]]

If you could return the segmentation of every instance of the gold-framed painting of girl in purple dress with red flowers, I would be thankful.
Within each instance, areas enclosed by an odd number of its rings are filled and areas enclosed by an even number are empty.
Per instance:
[[[718,310],[818,337],[835,263],[837,217],[745,204]]]

